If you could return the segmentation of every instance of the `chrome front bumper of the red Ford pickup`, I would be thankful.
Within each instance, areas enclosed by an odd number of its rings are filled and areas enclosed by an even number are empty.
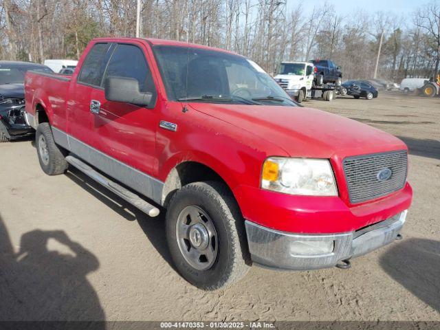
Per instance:
[[[254,263],[283,270],[314,270],[332,267],[339,261],[369,253],[393,242],[406,219],[406,210],[390,219],[355,232],[342,234],[292,234],[245,221],[249,250]],[[333,241],[333,251],[326,254],[295,254],[297,241]]]

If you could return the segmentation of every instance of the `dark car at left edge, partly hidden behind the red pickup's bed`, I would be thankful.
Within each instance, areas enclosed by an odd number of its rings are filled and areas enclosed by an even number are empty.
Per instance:
[[[34,133],[24,116],[23,83],[28,70],[53,73],[49,67],[41,64],[0,61],[0,142]]]

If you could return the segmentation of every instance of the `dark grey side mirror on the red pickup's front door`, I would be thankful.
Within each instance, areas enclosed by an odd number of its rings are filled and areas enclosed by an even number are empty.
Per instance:
[[[153,94],[139,91],[139,83],[135,78],[115,76],[107,77],[104,81],[104,94],[105,98],[109,101],[145,106],[153,98]]]

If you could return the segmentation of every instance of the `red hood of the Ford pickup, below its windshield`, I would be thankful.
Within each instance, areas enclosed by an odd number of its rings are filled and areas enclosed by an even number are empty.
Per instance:
[[[258,135],[291,157],[347,157],[406,149],[397,137],[349,118],[305,107],[192,102],[193,109]]]

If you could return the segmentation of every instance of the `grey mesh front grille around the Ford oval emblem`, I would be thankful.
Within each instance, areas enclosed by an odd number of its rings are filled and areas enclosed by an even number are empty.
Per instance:
[[[344,159],[343,166],[350,201],[360,203],[404,188],[408,155],[406,151],[395,151],[347,157]],[[386,173],[387,168],[391,170],[391,176],[388,179],[382,177],[381,181],[380,173]]]

